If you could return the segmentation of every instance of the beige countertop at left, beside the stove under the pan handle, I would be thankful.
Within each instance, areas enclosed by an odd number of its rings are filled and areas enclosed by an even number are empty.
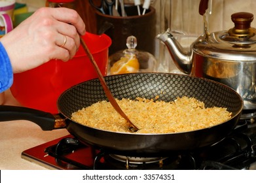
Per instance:
[[[9,90],[5,92],[4,105],[20,104]],[[0,116],[1,118],[1,116]],[[0,169],[1,170],[46,170],[45,167],[21,158],[24,150],[68,135],[66,129],[43,131],[38,125],[26,120],[0,122]]]

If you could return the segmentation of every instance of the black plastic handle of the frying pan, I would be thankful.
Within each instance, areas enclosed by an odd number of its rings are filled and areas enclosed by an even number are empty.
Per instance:
[[[41,127],[44,131],[55,129],[55,118],[49,112],[33,108],[0,105],[0,122],[12,120],[29,120]]]

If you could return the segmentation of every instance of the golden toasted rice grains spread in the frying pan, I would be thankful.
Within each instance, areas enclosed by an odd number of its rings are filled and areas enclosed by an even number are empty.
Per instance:
[[[175,101],[155,101],[137,98],[116,99],[120,108],[134,125],[136,133],[178,133],[221,124],[231,118],[231,112],[222,107],[204,107],[202,101],[181,97]],[[111,103],[100,101],[74,112],[72,120],[82,125],[107,131],[127,132],[128,123]]]

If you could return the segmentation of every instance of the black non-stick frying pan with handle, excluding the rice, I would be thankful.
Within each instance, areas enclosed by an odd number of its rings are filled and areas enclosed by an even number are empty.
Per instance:
[[[43,130],[65,127],[79,141],[109,153],[123,156],[158,157],[170,156],[174,152],[193,150],[210,146],[229,135],[242,113],[242,98],[234,90],[212,80],[170,73],[134,73],[105,76],[105,81],[114,97],[147,99],[159,96],[159,100],[173,101],[188,96],[204,101],[206,107],[226,107],[232,118],[196,131],[164,134],[137,134],[104,131],[78,124],[71,120],[71,114],[82,107],[107,100],[97,79],[88,80],[66,90],[58,99],[60,114],[23,107],[0,107],[0,121],[30,120]],[[185,112],[185,111],[184,111]]]

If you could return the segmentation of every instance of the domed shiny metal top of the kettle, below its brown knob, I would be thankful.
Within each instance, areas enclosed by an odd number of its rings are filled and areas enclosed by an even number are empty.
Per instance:
[[[192,52],[206,58],[223,61],[256,61],[256,37],[227,39],[227,32],[219,31],[202,35],[192,45]]]

